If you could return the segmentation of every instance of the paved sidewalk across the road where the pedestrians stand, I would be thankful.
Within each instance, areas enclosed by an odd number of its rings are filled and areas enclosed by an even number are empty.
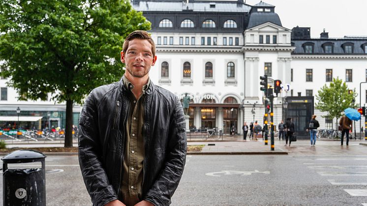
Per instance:
[[[217,139],[217,138],[216,138]],[[242,140],[242,136],[223,136],[223,141],[219,140],[207,141],[203,139],[187,138],[187,145],[204,145],[203,149],[199,152],[187,152],[188,155],[223,155],[223,154],[291,154],[291,155],[367,155],[367,141],[364,140],[350,140],[349,146],[346,146],[344,140],[344,146],[340,146],[340,140],[319,140],[316,141],[316,146],[311,147],[309,140],[298,140],[292,142],[291,147],[284,146],[285,141],[279,141],[275,138],[275,149],[274,151],[270,148],[270,138],[268,145],[260,138],[258,141]],[[77,142],[74,141],[74,147],[77,147]],[[42,141],[39,142],[22,142],[13,144],[8,143],[7,147],[63,147],[63,142],[52,142],[46,144]],[[45,152],[48,155],[60,154],[58,152]],[[76,152],[66,153],[69,155],[77,155]],[[5,153],[0,153],[5,155]],[[65,153],[62,153],[65,155]]]

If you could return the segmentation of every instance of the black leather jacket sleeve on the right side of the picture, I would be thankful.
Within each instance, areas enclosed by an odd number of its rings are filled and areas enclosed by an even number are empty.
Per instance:
[[[186,161],[186,124],[183,108],[177,97],[173,108],[166,162],[152,188],[144,197],[144,200],[155,206],[171,204],[171,197],[179,185]]]

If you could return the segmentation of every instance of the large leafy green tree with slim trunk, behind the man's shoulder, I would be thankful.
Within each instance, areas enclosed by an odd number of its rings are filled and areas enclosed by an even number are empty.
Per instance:
[[[0,22],[1,76],[20,100],[66,102],[65,147],[73,104],[121,78],[123,39],[151,25],[123,0],[2,0]]]

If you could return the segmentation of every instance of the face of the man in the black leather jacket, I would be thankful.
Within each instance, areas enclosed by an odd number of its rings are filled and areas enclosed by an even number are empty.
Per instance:
[[[121,61],[125,63],[126,73],[136,78],[148,75],[156,59],[152,54],[152,44],[146,39],[131,40],[126,53],[121,52]]]

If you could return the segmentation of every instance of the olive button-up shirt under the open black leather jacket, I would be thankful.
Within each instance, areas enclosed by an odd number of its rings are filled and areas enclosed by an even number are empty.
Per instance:
[[[144,175],[144,100],[148,84],[143,86],[142,95],[136,99],[132,93],[132,85],[125,76],[122,77],[123,85],[130,90],[129,114],[127,114],[125,129],[125,147],[123,157],[122,199],[126,206],[133,206],[142,201],[142,185]],[[123,125],[122,125],[123,126]]]

